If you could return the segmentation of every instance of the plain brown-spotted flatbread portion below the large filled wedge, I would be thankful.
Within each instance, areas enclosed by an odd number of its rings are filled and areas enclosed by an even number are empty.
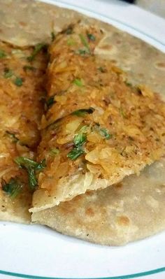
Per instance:
[[[59,206],[33,213],[32,221],[62,234],[104,245],[124,245],[165,229],[165,159],[141,176],[87,192]]]

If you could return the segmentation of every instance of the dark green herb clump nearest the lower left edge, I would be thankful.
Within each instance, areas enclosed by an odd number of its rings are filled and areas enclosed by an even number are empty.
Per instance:
[[[20,193],[23,185],[20,183],[18,178],[10,178],[9,182],[6,183],[4,179],[1,180],[2,189],[6,194],[10,196],[11,199],[14,199],[17,194]]]

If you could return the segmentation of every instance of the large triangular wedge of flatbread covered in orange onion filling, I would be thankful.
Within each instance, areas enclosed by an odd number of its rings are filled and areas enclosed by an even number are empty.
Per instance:
[[[48,113],[38,148],[46,166],[32,212],[119,183],[165,155],[165,103],[94,55],[103,36],[80,23],[50,47]]]

